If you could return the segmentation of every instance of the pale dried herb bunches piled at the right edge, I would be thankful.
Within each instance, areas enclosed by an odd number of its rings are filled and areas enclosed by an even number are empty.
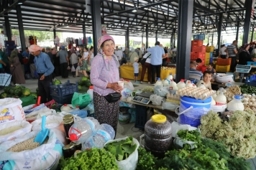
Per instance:
[[[201,135],[215,141],[224,141],[233,156],[244,159],[256,156],[256,119],[255,112],[246,109],[236,110],[228,121],[210,111],[201,117]]]

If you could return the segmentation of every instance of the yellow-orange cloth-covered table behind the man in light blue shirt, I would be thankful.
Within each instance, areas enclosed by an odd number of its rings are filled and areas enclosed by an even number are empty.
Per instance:
[[[172,73],[173,75],[175,75],[176,73],[176,69],[172,68],[170,70],[161,70],[161,80],[165,80],[166,77],[168,77],[168,75],[170,75],[170,73]],[[127,79],[134,79],[134,70],[133,67],[125,67],[125,66],[121,66],[120,67],[120,75],[122,78],[127,78]],[[142,75],[142,67],[139,67],[139,76],[138,76],[138,80],[140,80],[140,77]],[[143,81],[147,82],[147,71],[145,73],[144,79]]]

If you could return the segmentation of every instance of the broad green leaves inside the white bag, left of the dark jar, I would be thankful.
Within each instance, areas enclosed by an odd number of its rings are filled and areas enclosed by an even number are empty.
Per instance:
[[[116,156],[117,161],[122,161],[127,159],[137,148],[137,144],[132,143],[132,140],[133,138],[130,136],[126,140],[107,143],[104,148],[106,148],[106,151]]]

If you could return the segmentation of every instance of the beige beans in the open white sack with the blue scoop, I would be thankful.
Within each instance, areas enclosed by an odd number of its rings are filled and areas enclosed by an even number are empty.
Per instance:
[[[34,140],[35,140],[35,137],[29,138],[27,141],[17,143],[16,145],[12,146],[12,148],[9,148],[7,151],[20,152],[20,151],[26,151],[26,150],[37,148],[38,146],[40,146],[40,143],[34,142]],[[47,143],[47,141],[48,141],[48,138],[45,138],[45,141],[42,144]]]

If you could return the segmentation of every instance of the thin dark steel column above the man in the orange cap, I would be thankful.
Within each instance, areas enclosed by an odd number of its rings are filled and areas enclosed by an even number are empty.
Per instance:
[[[22,22],[22,9],[20,5],[16,6],[16,12],[17,12],[17,20],[19,25],[19,37],[20,42],[22,43],[22,51],[26,51],[26,41],[25,41],[25,35],[24,35],[24,28],[23,28],[23,22]]]

